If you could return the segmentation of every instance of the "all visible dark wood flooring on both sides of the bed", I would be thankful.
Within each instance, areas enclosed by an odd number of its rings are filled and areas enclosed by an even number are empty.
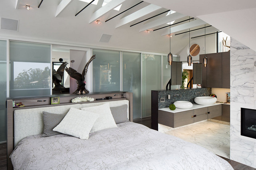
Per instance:
[[[135,123],[139,123],[142,125],[145,125],[149,128],[151,128],[151,118],[143,118],[143,119],[136,119],[133,122]],[[246,170],[256,170],[255,168],[252,168],[250,166],[241,164],[239,162],[236,162],[234,160],[230,160],[227,158],[224,158],[222,156],[220,156],[221,158],[225,159],[226,161],[229,162],[229,164],[231,164],[231,166],[235,169],[235,170],[242,170],[242,169],[246,169]],[[7,160],[6,160],[6,144],[1,144],[0,145],[0,170],[6,170],[7,169]]]

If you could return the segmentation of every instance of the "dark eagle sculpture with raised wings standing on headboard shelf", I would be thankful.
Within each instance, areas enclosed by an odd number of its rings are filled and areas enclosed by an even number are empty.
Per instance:
[[[75,69],[73,68],[67,68],[65,67],[65,70],[67,71],[68,75],[74,79],[76,79],[76,83],[77,83],[77,89],[76,91],[74,91],[73,93],[78,93],[78,94],[85,94],[85,93],[89,93],[89,90],[87,90],[85,88],[86,82],[85,82],[85,76],[87,73],[87,69],[89,64],[92,62],[93,59],[95,59],[96,55],[91,56],[90,60],[86,63],[85,68],[81,73],[77,72]]]

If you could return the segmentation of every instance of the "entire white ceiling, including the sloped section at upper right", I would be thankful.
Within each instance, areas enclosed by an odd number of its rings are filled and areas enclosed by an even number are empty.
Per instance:
[[[19,2],[19,6],[17,9],[15,9],[17,1]],[[64,8],[64,10],[62,10],[57,17],[55,17],[60,2],[64,3],[68,1],[70,1],[70,3],[68,3],[69,5],[66,6],[66,8]],[[241,2],[238,0],[226,0],[224,2],[220,0],[214,2],[209,0],[196,0],[193,1],[193,3],[188,0],[146,0],[138,6],[115,17],[114,19],[105,22],[105,20],[109,19],[110,17],[113,17],[114,15],[140,2],[139,0],[126,0],[122,2],[120,11],[110,10],[109,12],[103,14],[101,17],[98,17],[98,19],[101,21],[101,24],[97,24],[96,21],[93,21],[91,24],[89,24],[89,22],[92,16],[96,15],[99,12],[99,9],[102,10],[101,4],[103,3],[103,0],[99,0],[97,6],[93,4],[89,5],[76,17],[75,14],[83,7],[85,7],[88,4],[87,2],[82,2],[79,0],[44,0],[40,8],[37,8],[39,2],[40,0],[1,0],[0,17],[19,20],[19,30],[18,32],[14,32],[0,29],[0,38],[27,38],[35,40],[81,44],[87,45],[88,47],[96,46],[138,50],[145,52],[168,53],[169,37],[167,35],[161,36],[164,32],[168,32],[168,27],[158,31],[153,31],[153,29],[165,26],[167,24],[151,28],[150,33],[147,33],[146,31],[139,32],[144,24],[165,17],[166,14],[159,15],[157,17],[151,18],[147,21],[130,27],[130,25],[134,23],[152,17],[156,14],[166,11],[167,9],[174,10],[186,15],[185,17],[182,17],[180,19],[176,19],[175,23],[184,19],[188,19],[188,16],[197,17],[213,25],[217,29],[229,34],[230,36],[234,37],[235,39],[246,44],[249,47],[253,46],[255,41],[246,42],[248,41],[247,38],[256,38],[253,32],[253,28],[251,28],[251,25],[254,26],[254,28],[256,26],[253,18],[256,9],[256,2],[254,0],[247,0],[246,2]],[[31,5],[31,10],[26,10],[26,4]],[[153,12],[146,11],[146,13],[148,14],[145,16],[138,12],[137,15],[133,14],[136,11],[142,11],[141,9],[144,9],[150,4],[155,4],[164,8],[159,8]],[[106,8],[107,7],[105,7],[105,9]],[[238,10],[238,12],[235,10]],[[236,14],[234,15],[234,13]],[[240,16],[240,13],[244,14],[241,14]],[[142,17],[135,19],[134,21],[130,21],[131,19],[129,16],[135,17],[138,15],[141,15]],[[130,19],[130,22],[127,23],[128,21],[125,18]],[[237,20],[237,18],[241,18],[242,21]],[[237,21],[239,21],[239,24]],[[202,26],[197,26],[195,28],[200,27]],[[187,30],[188,29],[185,29],[177,33]],[[208,33],[207,30],[208,29],[206,29],[206,33]],[[209,33],[211,33],[210,29]],[[250,33],[253,33],[253,35],[248,35]],[[99,42],[102,34],[112,35],[108,43]],[[196,31],[193,34],[196,34]],[[185,45],[188,44],[188,39],[182,39],[183,37],[184,34],[171,37],[171,51],[173,54],[177,54],[181,49],[184,48]],[[255,47],[256,44],[254,45],[254,48]]]

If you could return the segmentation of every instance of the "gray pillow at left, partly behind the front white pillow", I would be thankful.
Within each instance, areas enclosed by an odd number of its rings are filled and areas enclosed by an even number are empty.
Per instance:
[[[42,137],[60,134],[60,132],[53,131],[52,129],[55,128],[57,125],[59,125],[59,123],[62,121],[62,119],[65,116],[66,116],[66,113],[54,114],[54,113],[43,112],[44,129],[43,129]]]

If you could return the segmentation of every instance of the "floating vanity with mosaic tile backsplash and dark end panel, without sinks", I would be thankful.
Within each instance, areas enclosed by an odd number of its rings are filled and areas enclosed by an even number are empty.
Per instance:
[[[209,96],[211,88],[192,88],[178,90],[151,91],[151,129],[158,130],[158,124],[169,127],[179,127],[194,122],[214,118],[220,121],[230,121],[230,105],[213,103],[211,105],[196,104],[194,99]],[[170,110],[169,105],[176,101],[188,101],[191,108]]]

